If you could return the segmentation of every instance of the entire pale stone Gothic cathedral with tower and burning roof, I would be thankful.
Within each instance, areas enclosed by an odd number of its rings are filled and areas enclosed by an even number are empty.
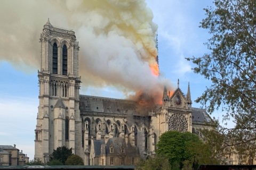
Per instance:
[[[79,94],[78,42],[75,32],[48,20],[39,39],[39,106],[35,159],[47,163],[53,150],[66,146],[84,165],[134,165],[154,156],[166,131],[191,132],[210,127],[204,109],[193,108],[190,87],[170,94],[163,89],[161,106],[145,102]]]

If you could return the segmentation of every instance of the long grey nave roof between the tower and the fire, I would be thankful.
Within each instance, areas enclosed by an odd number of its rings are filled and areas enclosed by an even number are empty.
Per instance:
[[[136,108],[132,100],[80,95],[79,109],[82,112],[135,114]]]

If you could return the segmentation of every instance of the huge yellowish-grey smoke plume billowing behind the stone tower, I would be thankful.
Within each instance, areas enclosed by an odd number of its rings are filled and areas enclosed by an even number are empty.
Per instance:
[[[114,86],[157,98],[170,87],[157,77],[157,26],[143,0],[3,1],[0,14],[0,60],[19,69],[39,67],[38,39],[50,18],[76,33],[83,87]]]

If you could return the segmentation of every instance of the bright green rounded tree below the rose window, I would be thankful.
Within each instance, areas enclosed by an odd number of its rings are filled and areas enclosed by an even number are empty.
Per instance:
[[[196,146],[199,149],[203,145],[204,143],[193,133],[167,131],[159,137],[156,153],[167,157],[172,169],[178,169],[183,167],[185,160],[189,160],[191,165],[198,164],[199,159],[196,158],[199,158],[204,150],[193,148]]]

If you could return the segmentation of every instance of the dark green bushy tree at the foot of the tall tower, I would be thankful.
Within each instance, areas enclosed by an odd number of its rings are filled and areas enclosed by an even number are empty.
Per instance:
[[[71,155],[72,148],[68,149],[66,146],[62,146],[53,150],[50,160],[59,160],[63,165],[65,165],[67,158]]]

